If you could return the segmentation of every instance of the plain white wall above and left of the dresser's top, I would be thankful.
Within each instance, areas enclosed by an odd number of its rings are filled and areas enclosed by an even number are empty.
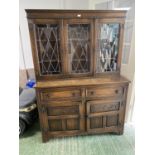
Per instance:
[[[88,9],[89,0],[20,0],[19,23],[21,31],[19,68],[33,68],[30,38],[25,9]],[[22,47],[21,47],[22,46]],[[23,62],[22,49],[25,58]]]

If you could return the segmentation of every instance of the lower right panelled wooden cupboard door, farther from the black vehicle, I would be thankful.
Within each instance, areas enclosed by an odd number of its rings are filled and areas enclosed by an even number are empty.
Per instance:
[[[88,132],[115,131],[120,125],[122,101],[94,100],[87,102]]]

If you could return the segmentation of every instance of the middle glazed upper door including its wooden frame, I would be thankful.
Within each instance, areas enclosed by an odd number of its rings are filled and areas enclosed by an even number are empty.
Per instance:
[[[70,76],[92,75],[93,20],[64,20],[66,72]]]

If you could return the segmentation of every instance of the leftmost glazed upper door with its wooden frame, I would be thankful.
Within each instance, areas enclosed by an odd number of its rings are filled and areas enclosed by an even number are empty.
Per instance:
[[[37,79],[63,74],[62,20],[33,19],[29,22]],[[35,45],[35,47],[34,47]]]

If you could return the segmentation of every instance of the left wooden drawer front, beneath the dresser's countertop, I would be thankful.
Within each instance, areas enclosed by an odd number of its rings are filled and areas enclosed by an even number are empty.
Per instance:
[[[49,90],[41,92],[41,100],[61,100],[65,98],[79,98],[81,97],[80,89],[77,90]]]

